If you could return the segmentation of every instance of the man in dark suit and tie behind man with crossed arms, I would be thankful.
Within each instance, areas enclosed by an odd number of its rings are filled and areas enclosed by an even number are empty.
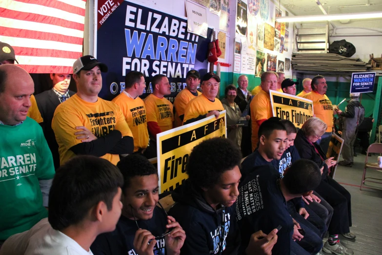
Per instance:
[[[70,74],[51,73],[50,79],[53,81],[52,89],[36,95],[37,106],[44,120],[44,136],[48,142],[49,149],[52,151],[55,169],[60,167],[60,154],[52,129],[52,119],[56,107],[76,93],[68,89],[70,78]]]

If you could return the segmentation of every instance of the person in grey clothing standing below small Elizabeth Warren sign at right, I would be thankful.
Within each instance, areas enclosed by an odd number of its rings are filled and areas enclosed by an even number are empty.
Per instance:
[[[354,164],[354,142],[357,137],[357,127],[362,123],[365,109],[360,103],[360,93],[350,93],[350,100],[345,107],[345,111],[336,108],[338,116],[343,117],[342,121],[342,158],[339,165],[352,167]]]

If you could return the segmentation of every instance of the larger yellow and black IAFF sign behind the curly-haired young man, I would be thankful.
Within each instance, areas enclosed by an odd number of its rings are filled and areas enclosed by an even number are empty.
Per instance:
[[[157,135],[159,191],[173,191],[188,178],[186,165],[191,150],[203,140],[226,137],[225,110],[200,121]]]

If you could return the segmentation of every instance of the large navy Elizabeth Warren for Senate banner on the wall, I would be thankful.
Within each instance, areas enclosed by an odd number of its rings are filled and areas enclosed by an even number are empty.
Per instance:
[[[122,1],[97,30],[96,58],[109,68],[102,74],[99,96],[116,97],[124,89],[125,75],[135,70],[145,76],[141,98],[152,93],[151,78],[164,74],[171,84],[171,95],[166,98],[174,102],[186,86],[189,70],[198,70],[201,77],[207,72],[211,34],[210,28],[207,39],[188,33],[186,18]]]

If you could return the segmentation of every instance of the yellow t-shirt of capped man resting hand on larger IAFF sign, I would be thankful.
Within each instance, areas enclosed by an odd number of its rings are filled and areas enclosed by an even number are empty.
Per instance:
[[[203,94],[197,96],[188,102],[185,111],[183,123],[190,119],[195,119],[200,115],[209,113],[210,111],[217,110],[223,111],[224,107],[221,104],[220,100],[215,98],[214,102],[211,102]]]

